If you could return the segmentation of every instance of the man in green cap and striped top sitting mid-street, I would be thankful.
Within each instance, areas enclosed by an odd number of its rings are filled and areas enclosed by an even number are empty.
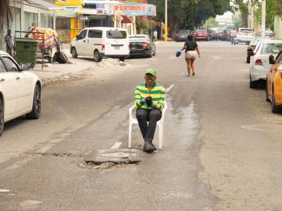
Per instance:
[[[161,120],[161,109],[164,108],[165,89],[156,83],[156,79],[156,70],[148,69],[145,73],[145,82],[135,89],[136,118],[145,140],[143,151],[147,153],[157,150],[152,141],[157,121]]]

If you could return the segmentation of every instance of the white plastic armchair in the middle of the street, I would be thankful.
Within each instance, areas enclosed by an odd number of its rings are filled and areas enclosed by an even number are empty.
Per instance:
[[[164,101],[164,108],[161,113],[161,120],[157,122],[157,126],[159,127],[159,149],[163,148],[163,139],[164,139],[164,115],[166,114],[166,101]],[[138,121],[134,115],[136,107],[133,106],[129,108],[129,132],[128,132],[128,148],[131,148],[131,136],[133,131],[133,124],[138,124]],[[139,133],[139,143],[142,144],[142,134],[141,131]]]

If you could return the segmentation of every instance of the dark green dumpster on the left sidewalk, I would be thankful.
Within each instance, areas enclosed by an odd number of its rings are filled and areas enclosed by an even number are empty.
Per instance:
[[[15,38],[17,63],[35,63],[37,39]]]

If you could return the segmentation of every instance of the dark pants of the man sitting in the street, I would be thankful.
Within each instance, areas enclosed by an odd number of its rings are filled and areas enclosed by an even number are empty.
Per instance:
[[[161,110],[146,110],[144,108],[138,108],[136,111],[136,118],[144,140],[153,141],[157,122],[161,120]],[[147,121],[149,124],[147,124]]]

